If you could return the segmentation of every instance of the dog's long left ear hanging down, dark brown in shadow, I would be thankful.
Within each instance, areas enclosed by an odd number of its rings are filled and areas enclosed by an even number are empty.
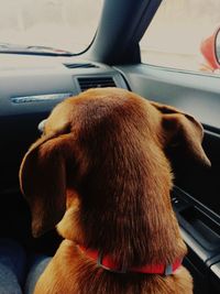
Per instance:
[[[21,163],[20,186],[30,204],[34,237],[54,228],[65,214],[68,137],[44,135]]]

